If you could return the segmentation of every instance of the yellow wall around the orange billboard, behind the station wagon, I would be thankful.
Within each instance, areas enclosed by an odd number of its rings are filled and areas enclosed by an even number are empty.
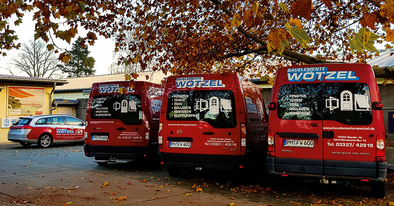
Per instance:
[[[24,84],[24,83],[0,83],[0,86],[4,86],[5,88],[0,92],[0,118],[7,117],[7,91],[8,86],[26,86],[26,87],[44,87],[44,111],[43,114],[51,114],[52,109],[52,98],[50,97],[51,91],[53,89],[53,85],[38,85],[38,84]],[[0,128],[0,142],[9,142],[7,139],[8,128]]]

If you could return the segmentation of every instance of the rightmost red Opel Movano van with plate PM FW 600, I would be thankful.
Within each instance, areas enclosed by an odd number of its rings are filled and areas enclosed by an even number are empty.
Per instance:
[[[268,104],[270,174],[322,183],[370,183],[385,196],[382,103],[371,66],[279,68]]]

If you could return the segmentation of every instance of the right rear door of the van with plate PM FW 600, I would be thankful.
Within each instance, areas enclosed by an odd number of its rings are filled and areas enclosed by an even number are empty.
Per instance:
[[[374,177],[376,134],[371,127],[370,95],[373,91],[362,83],[368,80],[357,77],[349,67],[334,65],[329,67],[331,70],[336,73],[335,77],[348,79],[323,80],[324,173]],[[340,170],[340,167],[359,169]]]

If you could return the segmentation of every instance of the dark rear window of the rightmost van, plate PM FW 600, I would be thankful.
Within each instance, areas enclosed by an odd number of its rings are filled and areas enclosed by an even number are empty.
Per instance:
[[[332,120],[369,125],[372,109],[365,83],[285,84],[279,88],[277,115],[289,120]]]

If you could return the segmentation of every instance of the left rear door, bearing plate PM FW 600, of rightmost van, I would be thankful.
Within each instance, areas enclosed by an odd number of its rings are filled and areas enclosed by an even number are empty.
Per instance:
[[[275,82],[281,85],[277,94],[278,119],[270,122],[277,137],[275,169],[323,174],[322,84],[320,80],[299,83],[294,78],[299,74],[291,70],[277,74],[285,78]]]

